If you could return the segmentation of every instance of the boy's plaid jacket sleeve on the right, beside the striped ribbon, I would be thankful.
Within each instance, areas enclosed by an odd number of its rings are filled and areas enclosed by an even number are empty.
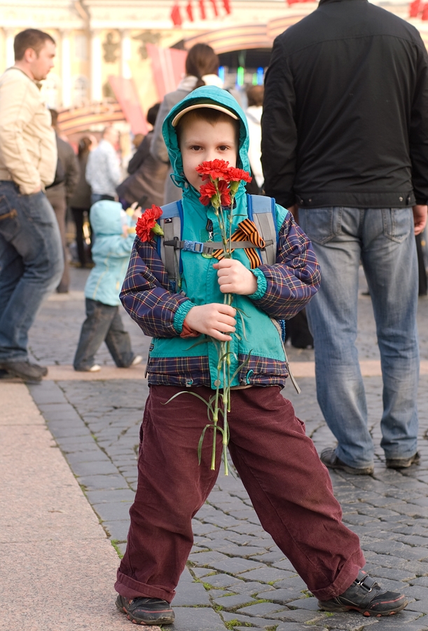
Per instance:
[[[318,291],[321,275],[315,252],[290,212],[279,231],[275,265],[261,265],[258,270],[265,278],[265,292],[253,301],[272,318],[293,318]]]

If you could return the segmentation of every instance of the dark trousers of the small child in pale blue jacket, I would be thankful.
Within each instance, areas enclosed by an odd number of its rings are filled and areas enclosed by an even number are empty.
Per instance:
[[[95,364],[95,353],[105,341],[116,366],[127,368],[134,359],[130,335],[123,328],[119,308],[86,298],[86,320],[78,341],[74,368],[88,370]]]

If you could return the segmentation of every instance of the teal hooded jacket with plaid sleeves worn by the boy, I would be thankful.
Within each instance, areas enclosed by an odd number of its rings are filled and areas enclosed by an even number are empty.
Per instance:
[[[247,156],[248,128],[242,109],[225,90],[204,87],[194,90],[175,106],[165,119],[163,133],[174,168],[174,179],[183,189],[183,240],[208,240],[207,219],[212,220],[214,240],[220,240],[219,224],[211,207],[199,201],[199,192],[183,173],[181,153],[172,119],[188,105],[209,99],[221,103],[240,119],[240,149],[237,166],[249,170]],[[236,195],[233,230],[247,215],[247,196],[243,183]],[[291,214],[276,206],[279,231],[277,262],[252,270],[258,288],[251,296],[237,296],[233,306],[242,310],[243,322],[237,317],[237,335],[230,342],[233,351],[230,374],[237,371],[232,386],[283,386],[288,367],[282,339],[275,320],[291,318],[308,303],[319,285],[319,268],[308,238],[296,226]],[[248,269],[249,259],[244,250],[235,250],[237,258]],[[216,259],[207,259],[194,252],[181,252],[181,293],[170,290],[167,274],[156,252],[155,243],[135,240],[130,267],[120,298],[130,315],[153,336],[149,355],[150,384],[181,386],[205,385],[216,388],[217,344],[201,335],[199,338],[180,337],[184,319],[195,305],[223,302],[213,268]],[[239,369],[249,356],[249,362]],[[220,376],[221,381],[221,376]]]

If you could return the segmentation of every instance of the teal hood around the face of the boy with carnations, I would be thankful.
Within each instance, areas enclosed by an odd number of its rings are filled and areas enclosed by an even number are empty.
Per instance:
[[[196,90],[193,90],[193,92],[191,92],[188,96],[186,96],[186,98],[181,100],[179,103],[177,103],[177,105],[172,108],[170,114],[168,114],[168,116],[165,118],[162,128],[163,137],[165,139],[165,144],[167,145],[172,169],[174,171],[174,181],[177,183],[178,186],[184,189],[184,191],[186,191],[186,189],[193,189],[193,186],[190,186],[187,182],[186,177],[184,177],[183,161],[181,159],[181,151],[179,149],[179,144],[177,140],[177,131],[174,127],[172,127],[172,121],[182,109],[185,109],[186,107],[189,107],[193,104],[205,102],[212,102],[213,104],[223,105],[223,107],[230,109],[230,111],[232,111],[233,114],[238,117],[240,121],[240,139],[237,156],[237,167],[246,171],[250,170],[248,160],[249,135],[247,118],[240,108],[240,105],[238,104],[235,97],[226,92],[226,90],[222,90],[221,88],[217,88],[216,86],[202,86],[202,88],[197,88]],[[242,182],[240,186],[244,188],[244,184]],[[193,191],[195,191],[195,189],[193,189]]]

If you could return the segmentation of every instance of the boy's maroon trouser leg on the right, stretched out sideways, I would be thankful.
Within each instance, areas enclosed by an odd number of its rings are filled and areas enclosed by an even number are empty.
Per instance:
[[[327,469],[279,388],[232,393],[229,450],[263,528],[319,599],[350,587],[364,556]]]

